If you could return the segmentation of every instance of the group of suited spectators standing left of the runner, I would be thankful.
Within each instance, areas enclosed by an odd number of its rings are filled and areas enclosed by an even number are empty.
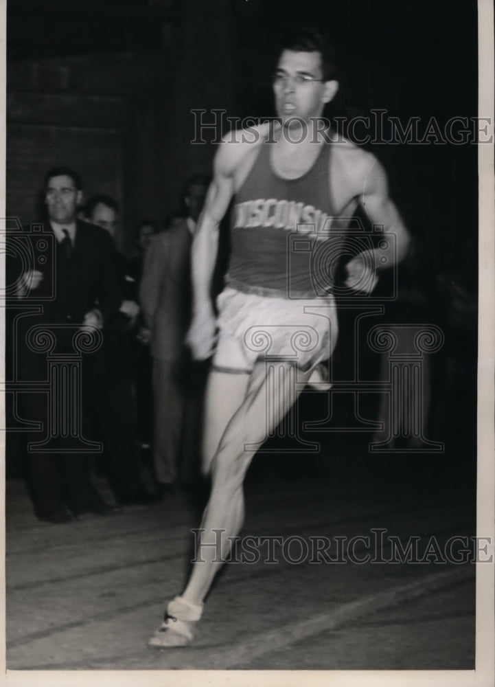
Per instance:
[[[8,236],[11,309],[23,315],[8,318],[8,376],[24,383],[8,414],[31,427],[10,433],[8,474],[26,477],[38,519],[151,506],[179,479],[181,488],[194,482],[202,387],[189,383],[184,340],[189,250],[207,185],[189,179],[162,225],[143,218],[126,257],[119,203],[102,193],[84,199],[79,174],[60,166],[43,180],[42,216]],[[20,239],[30,243],[27,261]],[[54,346],[38,346],[40,337]],[[101,479],[111,499],[100,495]]]

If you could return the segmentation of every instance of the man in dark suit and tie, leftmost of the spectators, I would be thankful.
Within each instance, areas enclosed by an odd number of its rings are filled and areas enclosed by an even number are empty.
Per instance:
[[[44,200],[45,233],[54,236],[54,250],[51,254],[45,251],[40,259],[36,251],[43,242],[34,246],[34,260],[26,266],[17,291],[20,301],[29,304],[31,299],[43,305],[20,320],[22,324],[14,336],[23,377],[30,383],[49,380],[47,370],[54,352],[67,359],[76,352],[73,359],[78,360],[80,380],[77,394],[67,394],[63,401],[58,398],[56,405],[53,388],[49,394],[31,391],[24,394],[22,406],[27,420],[41,423],[44,434],[50,428],[54,435],[49,451],[46,447],[43,451],[39,448],[41,433],[32,437],[38,448],[28,449],[30,491],[36,516],[62,523],[82,513],[104,514],[108,510],[91,484],[89,456],[84,453],[87,446],[84,409],[95,388],[95,354],[86,354],[84,343],[77,348],[74,337],[78,337],[78,331],[86,332],[88,340],[93,337],[96,342],[93,348],[97,349],[99,332],[117,312],[121,295],[110,236],[104,229],[77,218],[82,201],[78,174],[67,167],[47,172]],[[30,343],[33,326],[52,333],[48,338],[53,336],[56,341],[54,350],[43,352]],[[71,429],[74,423],[78,425],[77,436],[59,431],[62,416],[69,418]]]

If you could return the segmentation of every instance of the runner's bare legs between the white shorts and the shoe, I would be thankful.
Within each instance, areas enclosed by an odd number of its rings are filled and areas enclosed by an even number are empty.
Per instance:
[[[189,602],[203,602],[222,566],[221,561],[216,561],[215,546],[208,545],[218,541],[213,530],[223,530],[221,558],[225,560],[230,550],[228,537],[235,537],[244,522],[242,485],[255,454],[253,449],[246,449],[245,444],[257,444],[266,438],[267,432],[274,429],[294,405],[309,377],[310,372],[296,371],[288,363],[276,363],[275,374],[268,380],[264,362],[256,363],[249,376],[211,373],[205,418],[205,447],[209,451],[214,447],[214,452],[210,453],[211,495],[200,526],[205,531],[199,539],[198,561],[193,564],[182,594]],[[205,460],[208,463],[208,456]]]

